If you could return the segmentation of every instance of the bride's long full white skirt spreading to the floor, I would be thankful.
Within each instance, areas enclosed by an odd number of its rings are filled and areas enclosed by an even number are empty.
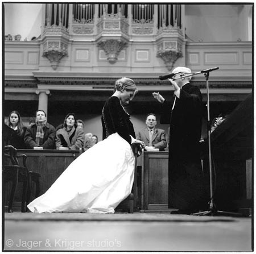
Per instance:
[[[82,153],[27,207],[33,213],[114,213],[133,181],[133,151],[115,133]]]

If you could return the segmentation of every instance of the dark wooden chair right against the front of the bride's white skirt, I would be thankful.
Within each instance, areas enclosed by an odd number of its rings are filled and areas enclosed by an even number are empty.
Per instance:
[[[134,182],[133,182],[133,189],[131,190],[131,193],[129,196],[123,200],[119,205],[116,207],[116,210],[128,210],[128,213],[133,214],[134,213],[134,207],[137,206],[137,158],[139,153],[139,144],[133,144],[132,146],[133,153],[135,156],[134,161]]]

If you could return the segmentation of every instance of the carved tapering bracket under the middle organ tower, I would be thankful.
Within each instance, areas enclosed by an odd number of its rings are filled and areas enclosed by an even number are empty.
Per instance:
[[[104,49],[107,60],[110,64],[117,62],[119,52],[127,46],[127,42],[124,40],[101,40],[97,43],[97,46]]]

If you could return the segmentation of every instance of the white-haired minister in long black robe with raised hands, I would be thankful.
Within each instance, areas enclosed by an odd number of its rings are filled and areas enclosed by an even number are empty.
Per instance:
[[[153,97],[162,103],[160,123],[170,124],[168,164],[168,207],[179,209],[177,214],[191,214],[205,209],[203,171],[199,141],[202,122],[202,95],[197,86],[189,83],[191,70],[177,67],[174,80],[174,102],[166,101],[159,93]],[[173,212],[173,213],[174,213]]]

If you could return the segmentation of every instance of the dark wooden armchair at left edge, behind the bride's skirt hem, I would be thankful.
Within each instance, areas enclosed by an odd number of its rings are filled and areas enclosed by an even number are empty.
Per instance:
[[[6,152],[9,152],[7,154]],[[35,183],[35,198],[39,197],[40,194],[40,177],[41,175],[36,172],[32,172],[28,170],[27,167],[27,156],[26,155],[17,155],[17,150],[11,145],[7,145],[5,147],[5,156],[9,157],[11,160],[11,163],[13,164],[12,166],[4,166],[5,170],[5,176],[7,177],[7,181],[13,182],[12,189],[11,189],[11,195],[9,199],[9,208],[8,211],[9,213],[12,212],[12,205],[13,205],[13,199],[14,199],[14,194],[16,191],[16,186],[18,185],[18,182],[23,182],[23,191],[22,191],[22,212],[28,211],[26,205],[30,203],[30,197],[31,197],[31,188],[32,188],[32,182]],[[22,157],[23,161],[23,166],[19,166],[19,161],[18,158]],[[10,177],[11,175],[14,174],[14,172],[11,172],[12,169],[16,170],[15,177]],[[7,169],[7,170],[6,170]],[[26,172],[26,173],[25,173]],[[13,180],[11,180],[13,179]],[[14,182],[15,181],[15,182]]]

